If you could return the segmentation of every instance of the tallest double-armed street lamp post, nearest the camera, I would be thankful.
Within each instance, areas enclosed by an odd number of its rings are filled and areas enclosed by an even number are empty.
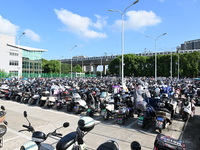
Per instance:
[[[119,12],[120,14],[121,14],[121,21],[122,21],[122,28],[121,28],[121,46],[122,46],[122,87],[123,87],[123,89],[124,89],[124,87],[125,87],[125,83],[124,83],[124,13],[126,12],[126,10],[128,9],[128,8],[130,8],[132,5],[134,5],[134,4],[136,4],[136,3],[138,3],[139,2],[139,0],[136,0],[135,2],[133,2],[131,5],[129,5],[128,7],[126,7],[125,9],[124,9],[124,11],[119,11],[119,10],[108,10],[108,11],[112,11],[112,12]]]

